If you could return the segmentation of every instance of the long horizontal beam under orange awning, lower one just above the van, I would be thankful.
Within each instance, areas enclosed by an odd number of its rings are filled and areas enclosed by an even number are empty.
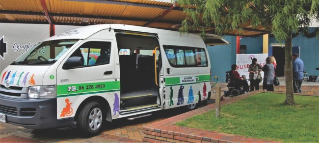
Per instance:
[[[14,15],[34,15],[34,16],[46,16],[42,12],[26,12],[26,11],[8,11],[0,10],[0,14],[14,14]],[[130,20],[130,21],[142,21],[149,22],[149,19],[139,19],[139,18],[126,18],[126,17],[109,17],[109,16],[96,16],[96,15],[80,15],[80,14],[56,14],[48,13],[51,17],[71,17],[71,18],[89,18],[89,19],[105,19],[105,20]],[[180,21],[170,21],[170,20],[158,20],[159,23],[169,23],[169,24],[181,24]]]

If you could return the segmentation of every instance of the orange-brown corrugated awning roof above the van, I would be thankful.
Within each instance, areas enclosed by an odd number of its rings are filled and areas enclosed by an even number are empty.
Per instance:
[[[120,23],[177,31],[185,18],[181,7],[155,0],[0,0],[1,23],[80,26]],[[214,34],[214,29],[207,29],[207,33]],[[262,27],[252,29],[247,25],[240,36],[267,33]]]

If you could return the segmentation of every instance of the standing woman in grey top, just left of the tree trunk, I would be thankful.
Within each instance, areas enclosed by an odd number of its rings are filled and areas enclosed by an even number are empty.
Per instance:
[[[266,58],[266,64],[263,67],[263,71],[265,72],[263,82],[264,91],[274,91],[273,80],[275,78],[275,65],[270,60],[270,57]]]

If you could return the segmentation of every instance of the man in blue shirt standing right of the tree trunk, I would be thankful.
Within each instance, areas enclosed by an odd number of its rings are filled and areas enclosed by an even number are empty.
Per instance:
[[[292,79],[293,79],[293,92],[301,93],[301,84],[303,81],[303,61],[299,58],[298,53],[292,54]]]

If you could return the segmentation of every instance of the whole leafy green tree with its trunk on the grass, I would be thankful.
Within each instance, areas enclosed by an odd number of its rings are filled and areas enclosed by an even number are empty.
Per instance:
[[[238,34],[244,25],[263,26],[277,41],[285,42],[285,104],[295,105],[292,86],[292,34],[319,20],[319,0],[177,0],[187,18],[180,32],[214,27],[216,34],[229,30]],[[195,7],[195,8],[194,8]],[[318,33],[317,33],[318,34]]]

